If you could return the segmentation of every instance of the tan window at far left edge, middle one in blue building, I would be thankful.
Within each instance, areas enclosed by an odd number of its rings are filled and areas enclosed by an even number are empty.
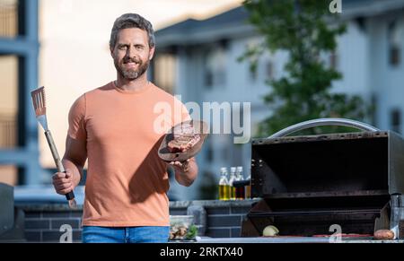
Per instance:
[[[17,145],[18,57],[0,56],[0,149]]]

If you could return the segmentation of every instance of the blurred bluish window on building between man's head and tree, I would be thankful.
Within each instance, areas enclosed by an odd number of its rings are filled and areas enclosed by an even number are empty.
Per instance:
[[[225,49],[222,46],[207,51],[204,60],[204,82],[206,89],[212,89],[225,83]]]

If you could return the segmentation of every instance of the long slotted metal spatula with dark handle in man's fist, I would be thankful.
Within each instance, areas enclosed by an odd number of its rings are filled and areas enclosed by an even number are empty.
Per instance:
[[[31,91],[31,97],[38,122],[40,122],[40,126],[42,126],[45,131],[45,136],[47,137],[50,152],[52,152],[53,160],[57,165],[57,171],[66,173],[65,168],[62,165],[62,161],[60,161],[59,153],[57,153],[56,144],[53,141],[52,135],[50,134],[50,131],[48,129],[45,87],[40,87],[34,91]],[[70,208],[76,208],[77,205],[75,203],[75,193],[71,191],[67,193],[65,196],[69,202]]]

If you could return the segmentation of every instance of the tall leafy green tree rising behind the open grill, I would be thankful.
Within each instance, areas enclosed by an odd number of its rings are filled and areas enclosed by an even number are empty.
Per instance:
[[[325,65],[321,55],[337,48],[336,38],[346,31],[325,0],[248,0],[243,3],[264,41],[248,48],[240,60],[248,59],[255,70],[265,51],[288,53],[285,76],[267,81],[264,97],[273,112],[259,125],[259,135],[271,135],[298,122],[318,117],[363,120],[370,110],[359,96],[330,92],[331,83],[342,75]],[[339,129],[340,131],[341,129]],[[345,130],[345,129],[344,129]],[[336,127],[312,129],[315,134],[334,132]],[[303,132],[307,133],[307,132]]]

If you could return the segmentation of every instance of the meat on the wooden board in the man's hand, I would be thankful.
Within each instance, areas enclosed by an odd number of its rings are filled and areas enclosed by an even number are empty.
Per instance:
[[[174,138],[167,144],[171,153],[186,152],[200,140],[200,135],[189,123],[180,124],[173,129]]]

